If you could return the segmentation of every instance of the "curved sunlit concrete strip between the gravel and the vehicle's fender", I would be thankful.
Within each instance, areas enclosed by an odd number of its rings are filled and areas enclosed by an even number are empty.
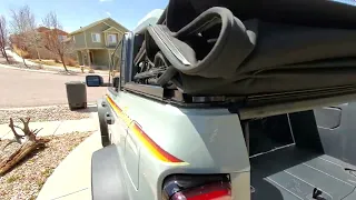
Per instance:
[[[100,148],[100,133],[96,131],[56,168],[37,200],[91,200],[91,154]]]

